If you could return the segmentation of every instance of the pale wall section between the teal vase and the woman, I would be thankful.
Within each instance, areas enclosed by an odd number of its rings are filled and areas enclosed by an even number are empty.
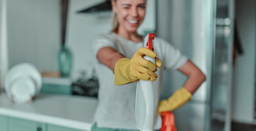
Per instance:
[[[111,30],[110,14],[108,17],[99,15],[77,13],[89,8],[102,0],[70,0],[67,20],[66,44],[73,54],[73,76],[79,77],[85,72],[86,77],[91,77],[95,57],[92,53],[92,40],[101,33]]]

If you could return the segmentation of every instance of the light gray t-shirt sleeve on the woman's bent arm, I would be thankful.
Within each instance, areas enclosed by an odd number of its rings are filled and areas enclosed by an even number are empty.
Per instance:
[[[184,65],[188,58],[181,51],[168,42],[162,40],[163,67],[168,70],[177,70]]]

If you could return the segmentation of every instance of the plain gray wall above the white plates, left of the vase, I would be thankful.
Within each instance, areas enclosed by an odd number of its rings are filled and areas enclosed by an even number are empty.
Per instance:
[[[57,70],[60,0],[8,0],[10,67],[22,62],[40,71]]]

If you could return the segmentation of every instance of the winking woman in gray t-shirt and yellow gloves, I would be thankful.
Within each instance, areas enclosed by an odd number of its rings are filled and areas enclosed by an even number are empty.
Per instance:
[[[158,113],[172,111],[189,101],[205,76],[179,50],[160,38],[154,40],[155,52],[143,48],[143,36],[137,29],[145,16],[146,0],[112,0],[112,9],[112,32],[99,35],[93,41],[100,88],[92,131],[137,130],[136,82],[155,81],[155,101],[158,102],[163,70],[179,70],[188,76],[183,87],[169,99],[155,104],[154,130],[159,130]],[[156,64],[144,60],[143,55],[155,57]]]

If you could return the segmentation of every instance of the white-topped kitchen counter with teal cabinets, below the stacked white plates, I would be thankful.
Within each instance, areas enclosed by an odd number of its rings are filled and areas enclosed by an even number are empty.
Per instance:
[[[96,107],[91,97],[39,93],[32,103],[15,104],[1,93],[0,131],[90,131]]]

